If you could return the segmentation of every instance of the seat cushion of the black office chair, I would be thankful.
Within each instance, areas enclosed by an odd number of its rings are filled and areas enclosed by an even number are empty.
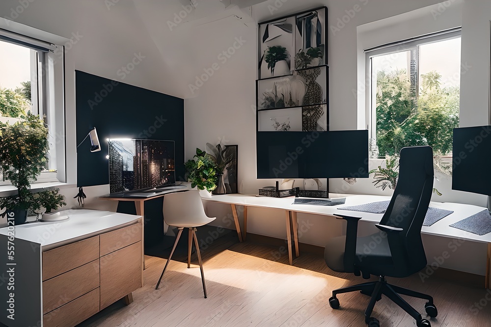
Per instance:
[[[326,245],[324,259],[327,266],[335,272],[351,271],[344,266],[345,246],[346,236],[331,238]],[[378,270],[383,270],[386,276],[391,276],[389,273],[393,261],[387,238],[381,237],[379,233],[357,237],[355,265],[360,271],[372,275],[378,275]]]

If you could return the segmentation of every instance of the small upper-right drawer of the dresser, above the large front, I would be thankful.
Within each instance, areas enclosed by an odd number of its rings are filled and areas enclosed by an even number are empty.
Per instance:
[[[119,228],[101,235],[101,256],[141,240],[141,224]]]

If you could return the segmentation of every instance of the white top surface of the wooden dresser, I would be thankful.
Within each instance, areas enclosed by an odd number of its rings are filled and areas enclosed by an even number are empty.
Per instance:
[[[98,210],[64,210],[67,220],[36,222],[15,226],[15,238],[40,244],[47,251],[64,244],[73,243],[120,227],[129,226],[141,216]],[[7,227],[0,228],[7,235]]]

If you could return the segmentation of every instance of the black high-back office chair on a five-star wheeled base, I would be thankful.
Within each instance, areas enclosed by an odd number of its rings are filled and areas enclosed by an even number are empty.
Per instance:
[[[426,267],[426,254],[421,241],[423,225],[433,192],[433,150],[429,146],[409,147],[401,150],[399,179],[389,206],[377,228],[381,230],[366,237],[357,237],[360,218],[339,215],[348,223],[346,236],[330,240],[326,246],[327,266],[336,272],[354,273],[368,279],[370,275],[379,281],[344,287],[332,291],[329,305],[339,308],[338,294],[361,291],[371,296],[365,310],[365,323],[379,327],[372,318],[375,303],[382,294],[403,308],[415,320],[418,327],[431,326],[427,319],[409,305],[399,294],[426,299],[426,313],[435,318],[438,314],[433,298],[429,295],[390,285],[389,277],[409,277]]]

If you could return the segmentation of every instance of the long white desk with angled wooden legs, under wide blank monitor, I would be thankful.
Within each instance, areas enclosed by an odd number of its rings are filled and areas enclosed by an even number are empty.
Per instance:
[[[346,197],[345,204],[333,205],[333,206],[323,206],[323,205],[311,205],[311,204],[293,204],[294,198],[269,198],[269,197],[256,197],[255,195],[249,194],[227,194],[227,195],[214,195],[211,199],[202,198],[206,201],[213,201],[219,203],[227,203],[232,205],[232,212],[234,215],[235,225],[237,226],[237,233],[239,234],[239,239],[242,242],[242,235],[239,226],[239,220],[237,216],[236,205],[244,206],[244,239],[246,238],[247,231],[247,207],[263,207],[263,208],[274,208],[279,210],[285,210],[286,214],[286,226],[287,226],[287,239],[288,239],[288,254],[290,259],[290,264],[293,264],[293,251],[292,251],[292,237],[291,237],[291,225],[293,225],[293,238],[295,245],[296,256],[300,255],[299,243],[298,243],[298,227],[297,227],[297,213],[309,213],[323,216],[334,216],[334,215],[351,215],[355,217],[361,217],[362,222],[370,222],[374,224],[380,223],[382,219],[382,214],[359,212],[359,211],[349,211],[349,210],[339,210],[338,207],[365,204],[377,201],[388,201],[390,197],[384,196],[371,196],[371,195],[342,195],[342,194],[331,194],[331,197]],[[439,220],[432,226],[423,226],[421,232],[423,234],[442,236],[448,238],[461,239],[471,242],[479,242],[488,244],[488,255],[487,255],[487,272],[486,272],[486,287],[489,288],[491,284],[491,233],[486,235],[476,235],[464,230],[450,227],[462,219],[465,219],[473,214],[485,210],[486,208],[461,203],[440,203],[431,202],[431,207],[441,208],[446,210],[454,211],[452,214],[446,216],[445,218]]]

